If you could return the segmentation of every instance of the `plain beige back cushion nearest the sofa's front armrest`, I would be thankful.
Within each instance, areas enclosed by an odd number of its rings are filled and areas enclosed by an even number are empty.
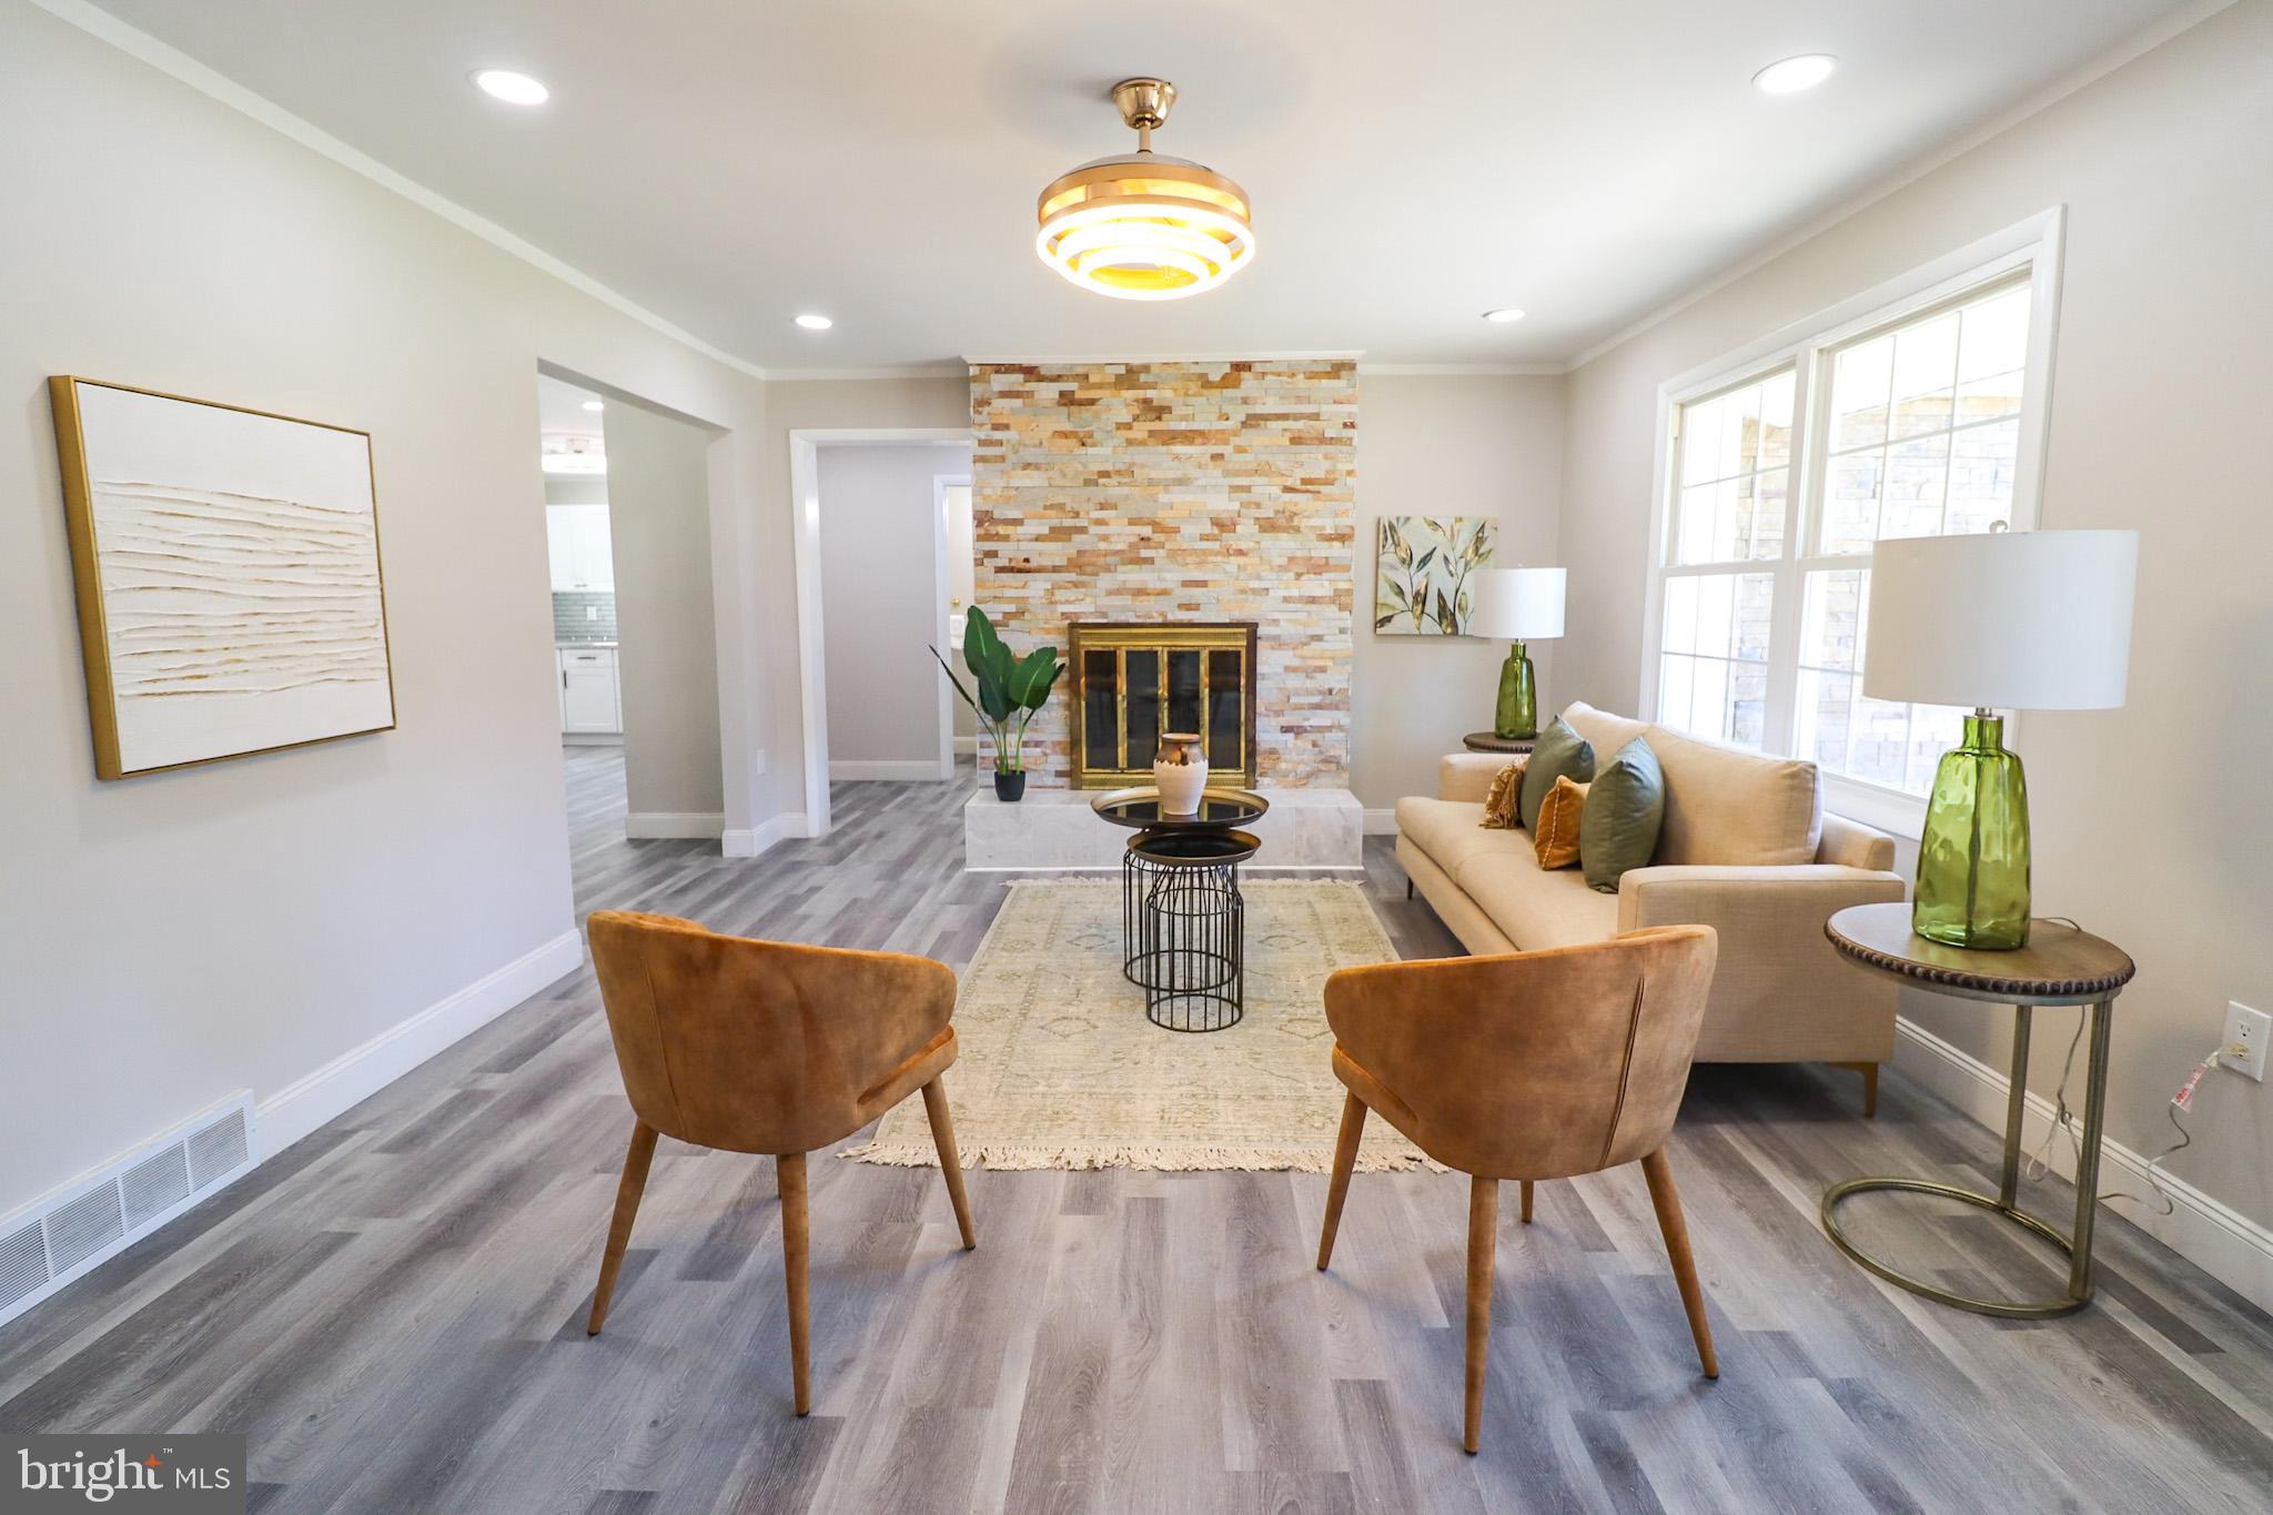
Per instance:
[[[1700,743],[1666,727],[1650,727],[1650,752],[1666,772],[1657,863],[1791,868],[1816,861],[1823,790],[1814,763]]]

